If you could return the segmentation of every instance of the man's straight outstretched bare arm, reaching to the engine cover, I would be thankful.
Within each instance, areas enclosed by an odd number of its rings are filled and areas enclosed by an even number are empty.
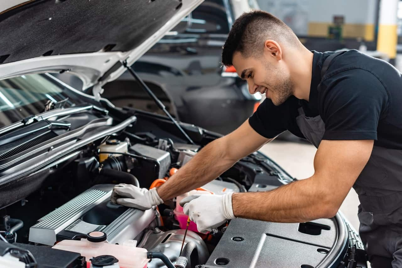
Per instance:
[[[168,200],[203,186],[271,140],[256,133],[247,120],[232,133],[206,145],[157,192],[162,200]]]

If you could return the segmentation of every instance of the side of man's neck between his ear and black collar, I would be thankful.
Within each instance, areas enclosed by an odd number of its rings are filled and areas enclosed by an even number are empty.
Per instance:
[[[293,95],[300,100],[309,100],[311,76],[313,68],[313,53],[305,47],[293,55],[296,61],[292,61],[291,79],[295,85]]]

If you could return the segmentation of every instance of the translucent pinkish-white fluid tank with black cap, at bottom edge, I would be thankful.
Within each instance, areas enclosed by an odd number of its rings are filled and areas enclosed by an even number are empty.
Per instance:
[[[136,241],[129,240],[123,245],[109,244],[106,241],[106,233],[93,231],[88,233],[87,239],[81,240],[62,240],[52,248],[78,252],[84,256],[87,261],[92,257],[101,255],[111,255],[119,260],[121,268],[146,268],[149,259],[147,259],[147,250],[137,248]]]

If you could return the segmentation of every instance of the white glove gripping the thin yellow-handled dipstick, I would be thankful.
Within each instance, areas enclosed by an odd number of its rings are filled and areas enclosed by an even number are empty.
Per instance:
[[[212,228],[224,224],[228,219],[234,219],[232,194],[191,195],[180,201],[183,212],[197,224],[200,233],[211,231]]]

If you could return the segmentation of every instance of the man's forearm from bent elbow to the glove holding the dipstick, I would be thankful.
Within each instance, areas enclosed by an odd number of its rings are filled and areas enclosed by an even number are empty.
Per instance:
[[[323,188],[311,177],[268,192],[236,193],[233,212],[236,217],[285,223],[330,218],[338,209]]]

